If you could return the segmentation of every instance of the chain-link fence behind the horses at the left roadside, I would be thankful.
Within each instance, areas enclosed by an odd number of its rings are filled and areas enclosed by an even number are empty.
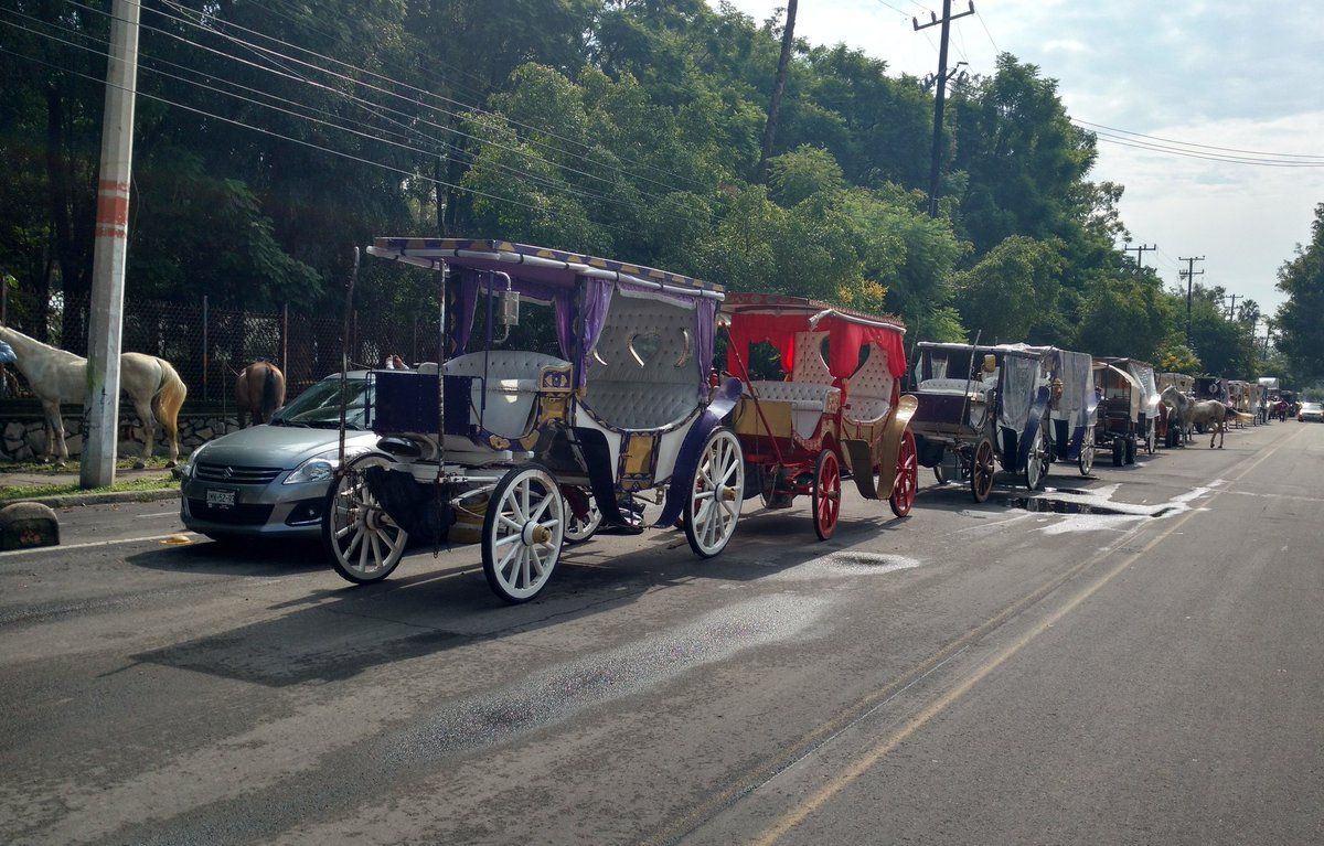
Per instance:
[[[61,350],[87,355],[89,298],[54,293],[48,302],[9,293],[0,305],[7,326]],[[122,348],[169,361],[188,385],[187,406],[234,404],[238,372],[257,360],[275,363],[286,379],[286,401],[319,379],[339,372],[344,323],[306,316],[289,306],[275,312],[212,307],[205,295],[189,301],[124,301]],[[436,360],[436,320],[414,315],[350,315],[350,361],[381,367],[399,355],[409,363]]]

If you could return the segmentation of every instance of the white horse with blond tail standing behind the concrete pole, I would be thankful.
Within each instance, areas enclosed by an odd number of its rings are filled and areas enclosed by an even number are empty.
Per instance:
[[[83,402],[87,395],[87,359],[28,338],[9,327],[0,326],[0,340],[13,347],[19,359],[15,367],[28,380],[32,392],[41,400],[46,414],[46,457],[60,445],[60,465],[69,461],[65,445],[65,425],[60,416],[61,402]],[[179,409],[184,405],[188,388],[166,359],[142,352],[119,356],[119,387],[128,395],[138,418],[147,430],[147,444],[138,467],[146,467],[152,457],[156,440],[156,421],[160,420],[169,438],[169,466],[179,461]]]

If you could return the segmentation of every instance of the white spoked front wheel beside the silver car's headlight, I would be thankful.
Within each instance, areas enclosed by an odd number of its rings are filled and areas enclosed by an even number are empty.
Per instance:
[[[363,471],[385,467],[381,455],[364,455],[336,477],[322,512],[322,543],[335,571],[355,584],[381,581],[400,564],[409,535],[396,526],[368,490]]]

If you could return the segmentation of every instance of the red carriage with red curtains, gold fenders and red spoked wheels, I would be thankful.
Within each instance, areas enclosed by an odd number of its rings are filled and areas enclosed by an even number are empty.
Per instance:
[[[849,474],[866,499],[910,514],[919,465],[906,428],[915,397],[900,395],[902,323],[775,294],[728,294],[722,311],[727,369],[744,383],[732,428],[764,507],[810,496],[814,531],[826,540]],[[760,342],[776,348],[785,379],[753,379],[752,347]]]

